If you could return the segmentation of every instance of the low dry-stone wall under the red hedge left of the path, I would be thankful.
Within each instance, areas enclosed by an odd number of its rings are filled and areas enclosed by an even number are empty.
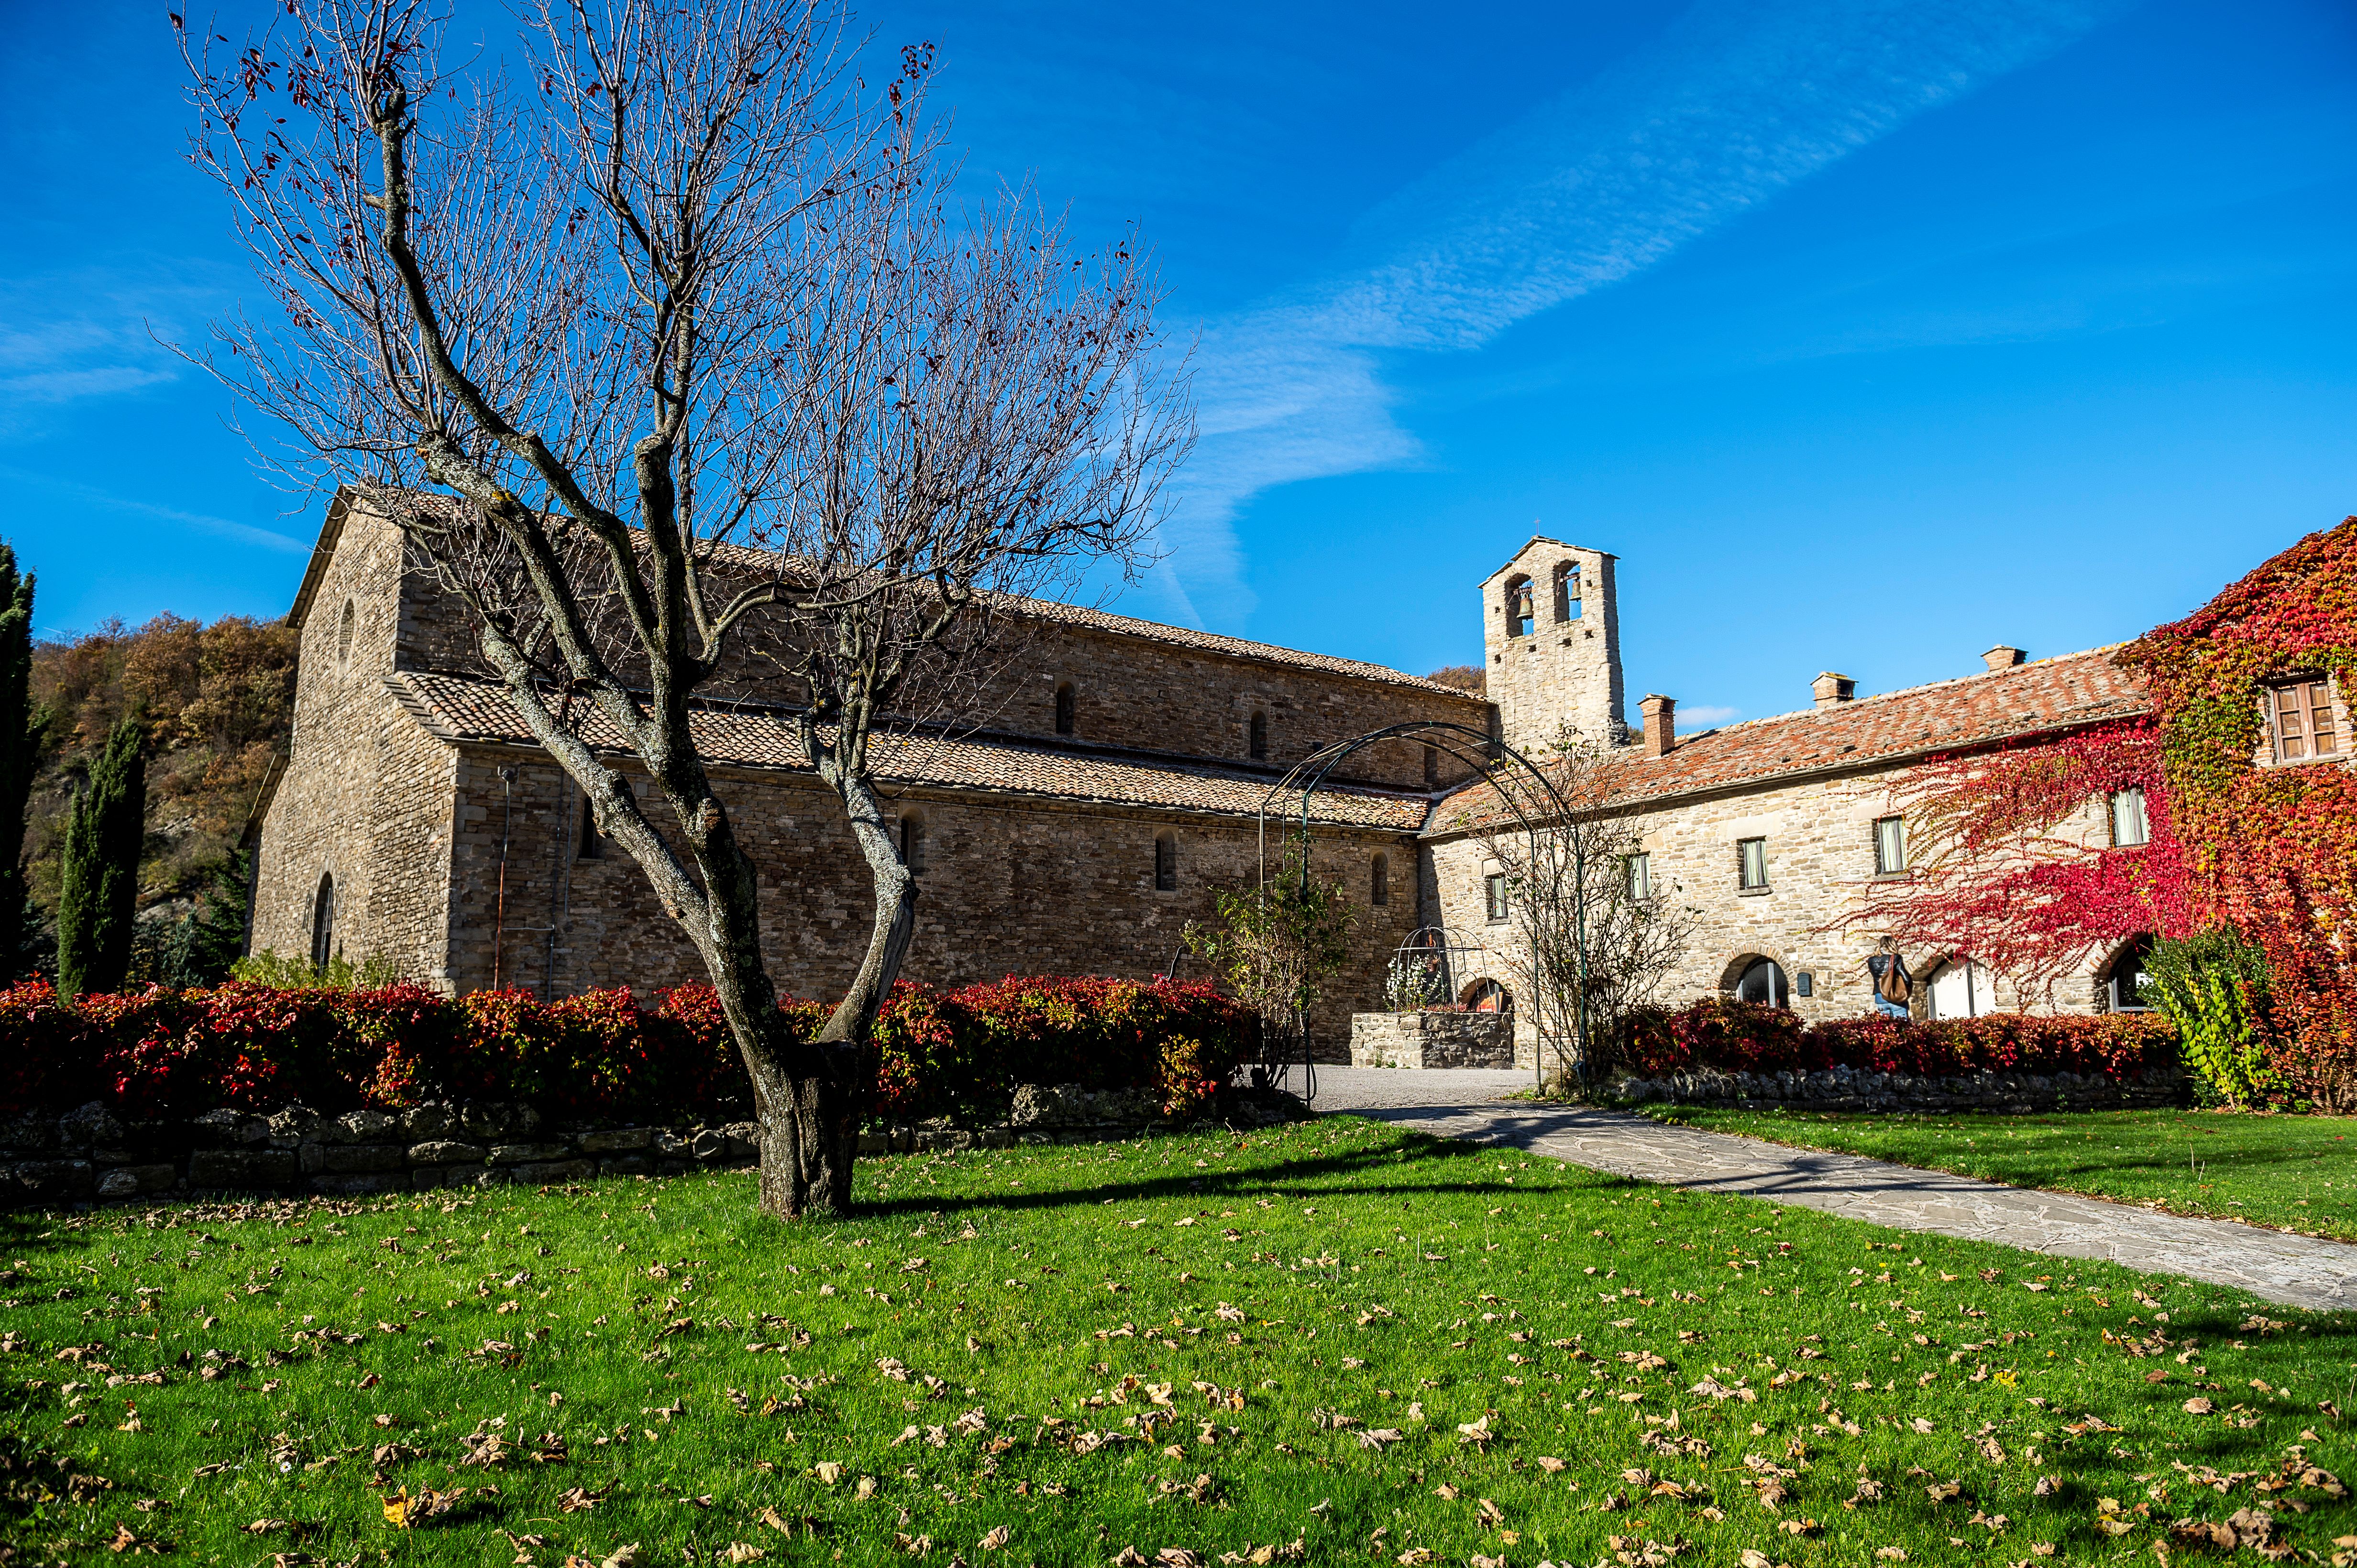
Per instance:
[[[1237,1090],[1211,1118],[1268,1125],[1301,1116],[1289,1095]],[[1131,1137],[1174,1125],[1131,1090],[1021,1085],[1004,1125],[907,1123],[860,1137],[860,1154],[1004,1149]],[[410,1111],[271,1116],[207,1111],[130,1123],[99,1102],[0,1123],[0,1205],[87,1203],[189,1191],[372,1194],[495,1182],[684,1175],[757,1163],[754,1123],[719,1128],[559,1125],[526,1104],[422,1104]]]

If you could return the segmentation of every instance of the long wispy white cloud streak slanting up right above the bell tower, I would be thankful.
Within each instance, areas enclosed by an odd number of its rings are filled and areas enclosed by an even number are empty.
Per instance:
[[[1367,217],[1358,266],[1207,323],[1169,527],[1186,593],[1249,610],[1230,520],[1254,492],[1419,457],[1381,353],[1478,348],[1629,278],[2126,2],[1704,0],[1433,170]]]

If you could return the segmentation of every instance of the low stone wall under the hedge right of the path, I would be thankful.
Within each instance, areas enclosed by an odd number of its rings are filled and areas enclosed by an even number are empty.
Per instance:
[[[1617,1074],[1607,1099],[1631,1104],[1803,1107],[1810,1111],[2119,1111],[2192,1104],[2185,1074],[2168,1069],[2117,1081],[2084,1074],[1966,1074],[1916,1078],[1860,1067],[1782,1074]]]

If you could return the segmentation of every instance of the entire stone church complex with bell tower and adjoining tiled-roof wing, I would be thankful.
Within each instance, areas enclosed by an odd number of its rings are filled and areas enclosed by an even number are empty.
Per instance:
[[[1254,881],[1263,810],[1299,822],[1299,793],[1273,793],[1287,768],[1395,723],[1530,749],[1570,720],[1619,739],[1612,768],[1643,798],[1640,871],[1702,911],[1664,1001],[1739,991],[1855,1015],[1869,1008],[1867,939],[1824,932],[1846,899],[1895,871],[1883,864],[1890,779],[1933,751],[2145,706],[2102,650],[2027,662],[1996,647],[1985,669],[1909,692],[1855,697],[1827,673],[1810,706],[1777,718],[1678,735],[1676,704],[1645,697],[1631,723],[1615,565],[1541,537],[1480,584],[1487,697],[1355,659],[1035,605],[985,727],[882,749],[922,888],[905,975],[938,986],[1174,965],[1202,975],[1181,958],[1181,932],[1211,918],[1216,888]],[[702,977],[389,520],[337,499],[290,624],[295,730],[250,829],[257,951],[379,956],[445,991],[646,994]],[[787,994],[832,996],[867,939],[865,866],[775,687],[738,678],[717,695],[700,744],[764,876],[771,972]],[[1499,1001],[1511,911],[1480,833],[1464,826],[1466,791],[1483,786],[1447,749],[1393,739],[1313,793],[1313,866],[1360,904],[1353,961],[1315,1019],[1320,1055],[1343,1050],[1348,1012],[1384,1005],[1393,951],[1426,925],[1492,949],[1492,972],[1475,961],[1459,979],[1471,1001]],[[2105,803],[2081,826],[2133,831]],[[2013,1003],[2001,979],[1961,961],[1928,979],[1919,1010]],[[2065,1005],[2107,1005],[2110,979],[2105,956]]]

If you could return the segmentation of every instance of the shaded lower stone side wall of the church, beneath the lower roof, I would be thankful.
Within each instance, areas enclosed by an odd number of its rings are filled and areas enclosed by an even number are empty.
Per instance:
[[[702,963],[655,902],[636,862],[615,845],[580,857],[580,791],[540,753],[464,746],[457,765],[457,850],[450,888],[448,984],[493,984],[493,935],[504,932],[500,984],[568,996],[627,984],[641,994],[702,979]],[[497,777],[516,768],[509,786]],[[794,996],[837,996],[867,942],[867,866],[841,808],[813,779],[728,775],[724,798],[761,869],[766,958]],[[955,989],[1006,975],[1127,975],[1150,979],[1181,961],[1183,979],[1207,970],[1183,954],[1188,921],[1216,918],[1219,885],[1259,876],[1252,822],[1058,805],[981,791],[907,791],[893,819],[922,819],[917,932],[903,975]],[[1178,838],[1178,890],[1155,890],[1155,836]],[[500,904],[500,848],[507,897]],[[1374,857],[1388,855],[1388,902],[1372,902]],[[1400,833],[1320,829],[1310,857],[1358,906],[1351,965],[1329,984],[1313,1031],[1343,1059],[1348,1015],[1376,1005],[1391,954],[1417,928]],[[554,928],[554,946],[549,937]]]

